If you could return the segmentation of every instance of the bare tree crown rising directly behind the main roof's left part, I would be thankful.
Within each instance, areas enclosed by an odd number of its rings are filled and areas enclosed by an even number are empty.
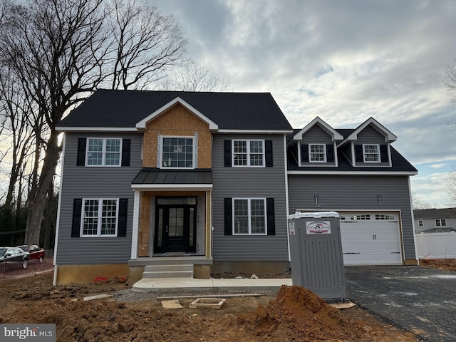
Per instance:
[[[174,17],[145,1],[113,0],[108,26],[114,38],[113,89],[154,86],[184,61],[187,40]]]

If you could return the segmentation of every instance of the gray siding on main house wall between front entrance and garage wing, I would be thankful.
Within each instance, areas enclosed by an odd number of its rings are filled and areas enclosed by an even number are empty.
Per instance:
[[[224,167],[224,140],[272,140],[273,167]],[[283,135],[214,135],[212,147],[214,261],[288,261]],[[274,198],[275,235],[224,235],[224,198]]]

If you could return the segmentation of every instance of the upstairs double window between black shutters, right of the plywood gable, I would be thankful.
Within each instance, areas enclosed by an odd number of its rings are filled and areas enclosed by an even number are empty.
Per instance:
[[[233,166],[264,167],[264,140],[232,140]]]

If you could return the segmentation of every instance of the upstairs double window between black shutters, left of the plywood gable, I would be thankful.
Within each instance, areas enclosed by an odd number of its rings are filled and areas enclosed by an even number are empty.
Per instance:
[[[122,139],[120,138],[88,138],[88,166],[120,166]]]

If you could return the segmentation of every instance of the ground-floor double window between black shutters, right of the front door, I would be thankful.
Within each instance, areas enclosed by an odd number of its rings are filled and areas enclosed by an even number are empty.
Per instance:
[[[234,198],[233,209],[234,235],[266,234],[265,198]]]

